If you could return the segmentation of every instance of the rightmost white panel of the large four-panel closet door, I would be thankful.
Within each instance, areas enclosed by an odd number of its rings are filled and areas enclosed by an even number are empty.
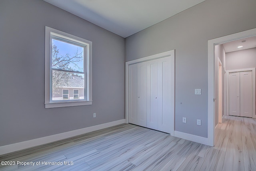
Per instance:
[[[158,60],[158,130],[171,131],[171,59]]]

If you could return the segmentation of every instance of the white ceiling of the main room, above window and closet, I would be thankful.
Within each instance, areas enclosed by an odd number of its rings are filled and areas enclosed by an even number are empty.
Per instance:
[[[124,38],[205,0],[44,0]]]

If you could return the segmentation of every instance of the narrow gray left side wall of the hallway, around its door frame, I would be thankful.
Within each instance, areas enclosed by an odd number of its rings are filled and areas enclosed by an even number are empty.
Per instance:
[[[219,122],[219,112],[218,112],[218,99],[219,99],[219,94],[218,94],[218,70],[219,70],[219,62],[218,62],[218,58],[220,59],[220,62],[222,63],[222,115],[224,115],[224,68],[226,65],[226,58],[225,58],[226,54],[225,54],[225,50],[223,45],[216,45],[215,46],[215,126],[218,124]]]

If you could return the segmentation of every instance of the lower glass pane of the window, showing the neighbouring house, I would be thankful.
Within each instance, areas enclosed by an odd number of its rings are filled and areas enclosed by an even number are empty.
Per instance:
[[[74,94],[79,93],[79,99],[84,99],[84,74],[52,70],[52,101],[62,100],[63,94],[68,94],[68,89]],[[62,89],[64,92],[62,92]],[[72,95],[70,99],[72,99]]]

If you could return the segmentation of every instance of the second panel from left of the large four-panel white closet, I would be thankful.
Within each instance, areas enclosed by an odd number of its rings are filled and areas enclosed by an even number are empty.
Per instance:
[[[137,125],[147,127],[147,62],[137,64]]]

